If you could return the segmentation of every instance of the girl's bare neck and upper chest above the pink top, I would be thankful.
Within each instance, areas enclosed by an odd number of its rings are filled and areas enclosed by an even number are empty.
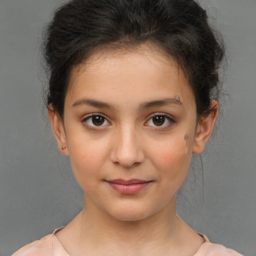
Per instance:
[[[70,255],[193,255],[203,242],[175,214],[175,198],[136,221],[108,215],[86,198],[84,209],[57,238]]]

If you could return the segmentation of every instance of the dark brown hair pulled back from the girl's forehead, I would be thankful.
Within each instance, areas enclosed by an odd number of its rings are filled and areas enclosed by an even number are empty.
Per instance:
[[[70,0],[62,5],[45,34],[47,105],[63,117],[70,72],[96,49],[147,41],[177,62],[193,90],[197,114],[207,114],[210,99],[218,98],[224,50],[194,0]]]

